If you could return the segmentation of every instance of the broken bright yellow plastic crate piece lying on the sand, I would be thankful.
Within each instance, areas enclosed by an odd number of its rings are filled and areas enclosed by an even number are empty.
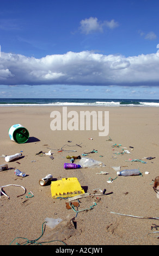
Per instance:
[[[84,190],[79,184],[77,178],[62,178],[51,182],[52,198],[74,197],[78,194],[84,194]]]

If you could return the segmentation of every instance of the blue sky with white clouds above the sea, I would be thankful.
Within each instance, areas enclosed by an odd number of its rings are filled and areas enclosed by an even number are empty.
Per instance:
[[[0,98],[159,99],[158,0],[0,0]]]

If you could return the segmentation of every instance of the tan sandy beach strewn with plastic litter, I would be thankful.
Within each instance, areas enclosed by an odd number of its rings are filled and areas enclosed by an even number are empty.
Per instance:
[[[28,240],[38,239],[41,235],[42,223],[45,218],[61,218],[63,222],[52,229],[45,227],[44,235],[37,242],[46,245],[158,245],[157,231],[151,226],[159,225],[158,220],[134,218],[112,214],[116,212],[125,215],[159,217],[159,199],[153,190],[153,181],[158,172],[159,158],[159,108],[155,107],[68,107],[76,111],[109,111],[109,135],[100,137],[98,131],[52,131],[50,114],[62,107],[1,107],[1,149],[0,156],[13,155],[22,151],[21,159],[8,163],[10,169],[0,172],[1,186],[15,184],[26,188],[26,194],[21,187],[8,186],[3,191],[10,199],[1,196],[1,245],[15,245],[24,242],[16,237]],[[17,144],[10,140],[9,127],[22,124],[28,131],[30,138],[27,143]],[[109,141],[109,136],[112,141]],[[93,138],[90,140],[89,138]],[[71,142],[68,142],[71,141]],[[65,150],[76,150],[68,153],[58,152],[63,145]],[[81,144],[81,147],[76,144]],[[120,148],[113,148],[114,144],[121,144]],[[134,149],[129,148],[132,146]],[[47,155],[36,155],[39,151],[48,153],[51,148],[54,159]],[[122,153],[123,148],[131,154]],[[70,162],[66,156],[89,153],[93,149],[97,153],[90,153],[90,157],[106,164],[105,167],[81,168],[65,170],[64,162]],[[101,157],[101,155],[103,157]],[[155,157],[145,160],[143,157]],[[142,162],[127,162],[129,159],[144,160]],[[19,162],[19,163],[17,163]],[[77,163],[78,160],[75,161]],[[5,163],[0,157],[0,164]],[[123,169],[139,168],[143,176],[117,176],[112,166]],[[123,167],[126,166],[126,167]],[[14,169],[18,168],[26,173],[25,178],[17,177]],[[99,175],[101,171],[109,174]],[[149,172],[148,175],[145,172]],[[40,186],[39,180],[47,174],[54,179],[76,177],[90,194],[97,188],[96,193],[106,189],[105,196],[88,196],[80,199],[78,210],[90,208],[92,210],[76,212],[66,208],[68,199],[53,199],[51,185]],[[117,178],[116,178],[117,177]],[[108,179],[114,179],[108,184]],[[115,179],[116,178],[116,179]],[[27,198],[32,191],[34,197]],[[112,193],[111,193],[112,192]],[[76,200],[77,202],[77,200]],[[70,220],[74,218],[74,224]],[[156,226],[157,227],[157,226]],[[50,242],[49,241],[52,241]],[[59,241],[54,241],[59,240]],[[62,242],[63,241],[63,242]],[[25,240],[26,242],[26,240]]]

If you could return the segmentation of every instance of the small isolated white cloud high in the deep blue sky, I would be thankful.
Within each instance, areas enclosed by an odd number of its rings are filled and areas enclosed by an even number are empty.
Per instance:
[[[89,19],[85,19],[80,22],[80,29],[83,34],[103,32],[103,27],[113,29],[118,26],[118,22],[115,22],[114,20],[101,22],[98,21],[96,17],[90,17]]]

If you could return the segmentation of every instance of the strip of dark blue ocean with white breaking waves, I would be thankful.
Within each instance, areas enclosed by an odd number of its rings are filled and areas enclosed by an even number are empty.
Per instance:
[[[134,99],[0,99],[0,106],[140,106],[159,107],[159,100]]]

